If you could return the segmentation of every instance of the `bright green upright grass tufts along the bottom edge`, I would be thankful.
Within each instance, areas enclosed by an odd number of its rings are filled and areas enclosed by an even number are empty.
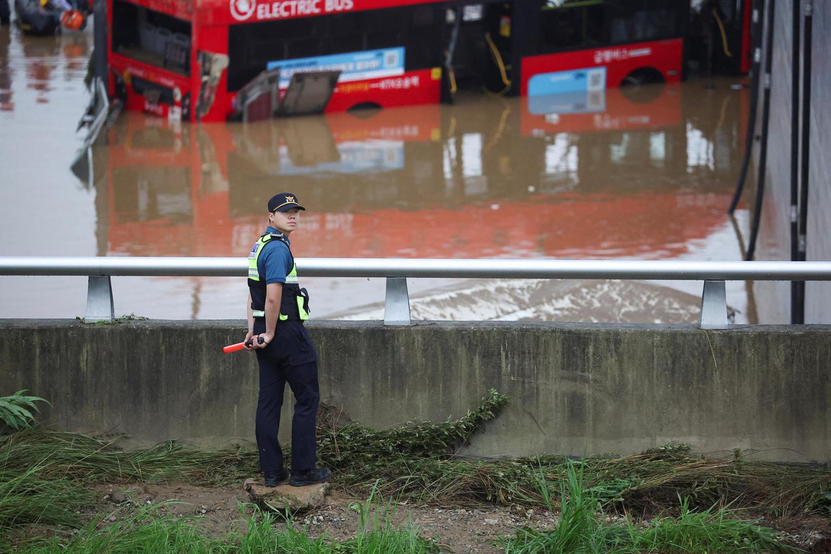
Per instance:
[[[561,518],[550,531],[518,529],[504,540],[506,554],[681,554],[688,552],[799,552],[777,540],[777,532],[756,522],[735,517],[725,507],[704,511],[691,509],[681,499],[677,517],[656,517],[638,523],[631,517],[608,522],[602,500],[586,487],[586,464],[568,462],[566,479],[559,483],[558,505]],[[548,509],[554,509],[552,485],[543,473],[536,475],[538,494]],[[112,524],[96,518],[78,532],[58,533],[53,537],[34,537],[18,542],[13,552],[21,554],[132,554],[143,552],[182,554],[301,553],[301,554],[433,554],[440,552],[435,542],[420,537],[412,524],[392,525],[395,504],[382,504],[373,488],[365,503],[350,507],[359,513],[356,536],[344,541],[325,535],[308,537],[290,519],[283,527],[278,517],[251,507],[221,537],[204,537],[199,517],[178,518],[165,515],[156,506],[138,507],[131,517]],[[2,549],[2,547],[0,547]]]

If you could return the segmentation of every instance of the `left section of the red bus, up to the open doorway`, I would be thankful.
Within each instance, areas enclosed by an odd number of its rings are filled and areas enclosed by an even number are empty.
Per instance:
[[[338,68],[352,67],[342,71],[329,111],[364,102],[386,107],[440,98],[445,10],[438,2],[107,3],[111,93],[125,96],[128,110],[173,120],[226,120],[237,112],[237,92],[270,63],[327,63],[320,60],[326,56],[341,56],[332,61]],[[375,56],[361,56],[367,51]]]

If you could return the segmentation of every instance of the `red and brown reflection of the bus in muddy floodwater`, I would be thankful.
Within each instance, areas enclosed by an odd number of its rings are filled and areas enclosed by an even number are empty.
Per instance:
[[[708,101],[724,118],[702,128],[684,90],[572,113],[565,95],[547,100],[560,113],[483,98],[249,125],[128,114],[96,151],[99,253],[238,255],[279,181],[315,207],[308,257],[678,257],[725,224],[743,129],[743,92]]]

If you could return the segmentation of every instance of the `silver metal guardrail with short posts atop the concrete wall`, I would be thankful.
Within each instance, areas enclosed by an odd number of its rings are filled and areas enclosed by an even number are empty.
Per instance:
[[[831,281],[831,262],[296,258],[302,277],[386,277],[386,325],[410,325],[407,277],[703,281],[702,329],[725,329],[725,281]],[[243,257],[0,257],[0,275],[88,276],[87,321],[115,317],[112,276],[246,277]]]

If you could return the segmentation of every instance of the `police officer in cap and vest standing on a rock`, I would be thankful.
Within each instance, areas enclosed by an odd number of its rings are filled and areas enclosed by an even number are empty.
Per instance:
[[[331,472],[317,468],[315,424],[320,393],[317,353],[303,326],[308,319],[308,293],[297,284],[297,266],[288,236],[297,228],[297,196],[281,193],[268,200],[268,227],[248,254],[248,335],[246,348],[257,352],[259,398],[257,446],[265,484],[288,482],[295,487],[323,483]],[[283,390],[294,393],[292,472],[283,468],[277,439]]]

